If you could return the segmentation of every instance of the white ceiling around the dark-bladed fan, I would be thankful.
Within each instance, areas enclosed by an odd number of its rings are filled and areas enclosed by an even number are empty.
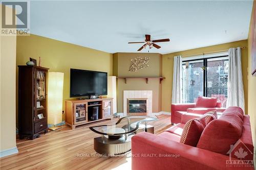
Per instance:
[[[137,52],[145,34],[153,53],[172,53],[244,40],[252,1],[31,1],[32,34],[96,50]],[[147,52],[143,49],[141,52]]]

